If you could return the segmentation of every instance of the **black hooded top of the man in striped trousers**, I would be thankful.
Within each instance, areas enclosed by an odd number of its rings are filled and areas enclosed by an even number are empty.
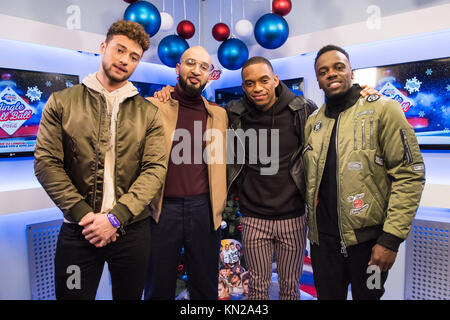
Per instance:
[[[249,146],[246,139],[246,159],[243,170],[243,182],[239,190],[239,205],[244,216],[262,219],[288,219],[301,216],[305,212],[305,203],[289,173],[292,154],[299,148],[299,138],[294,127],[294,113],[288,104],[296,96],[286,85],[280,82],[276,88],[277,101],[267,111],[256,108],[250,100],[244,98],[247,112],[242,117],[242,129],[254,129],[258,141]],[[279,156],[272,158],[272,166],[278,166],[273,175],[261,175],[261,168],[270,167],[260,161],[260,129],[268,130],[267,152],[270,153],[271,132],[279,130]],[[257,146],[252,151],[251,147]],[[270,156],[269,156],[270,157]],[[255,163],[256,162],[256,163]],[[273,168],[273,167],[272,167]]]

